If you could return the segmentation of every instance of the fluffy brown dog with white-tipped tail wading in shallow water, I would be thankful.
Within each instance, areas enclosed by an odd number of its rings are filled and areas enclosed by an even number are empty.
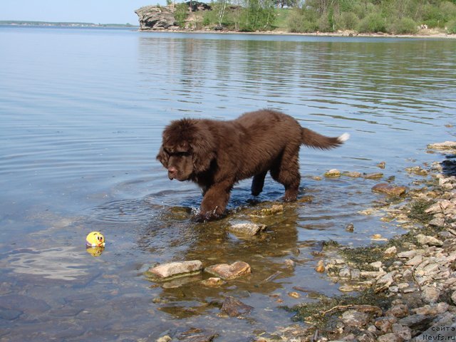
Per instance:
[[[274,110],[245,113],[236,120],[175,120],[163,131],[157,160],[170,180],[191,180],[203,190],[199,219],[221,217],[229,192],[239,180],[254,177],[252,195],[263,190],[264,177],[285,186],[284,200],[299,191],[299,147],[330,149],[349,138],[328,138]]]

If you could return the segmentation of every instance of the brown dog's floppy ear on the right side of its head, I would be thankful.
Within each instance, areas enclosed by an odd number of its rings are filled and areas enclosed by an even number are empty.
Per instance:
[[[204,172],[209,170],[212,160],[216,157],[216,144],[214,136],[204,125],[197,125],[197,130],[193,135],[191,143],[193,170]]]

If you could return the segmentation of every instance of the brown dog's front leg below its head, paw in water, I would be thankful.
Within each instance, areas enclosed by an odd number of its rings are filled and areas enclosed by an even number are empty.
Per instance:
[[[207,187],[197,215],[198,221],[219,219],[225,212],[234,182],[225,180]]]

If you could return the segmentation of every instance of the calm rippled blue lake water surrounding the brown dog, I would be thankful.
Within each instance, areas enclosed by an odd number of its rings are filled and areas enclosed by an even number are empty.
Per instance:
[[[360,214],[384,198],[371,192],[380,181],[312,176],[338,168],[383,172],[398,185],[420,179],[405,167],[442,160],[426,145],[454,139],[455,56],[454,39],[0,27],[1,341],[155,341],[190,328],[250,341],[291,323],[280,306],[338,294],[314,271],[321,242],[366,245],[403,230]],[[266,180],[253,200],[240,182],[226,219],[197,224],[199,190],[168,180],[155,155],[170,120],[259,108],[351,139],[331,151],[303,147],[301,196],[313,201],[240,239],[227,225],[279,202],[281,185]],[[99,257],[84,245],[94,230],[107,241]],[[207,274],[186,284],[144,275],[191,259],[246,261],[252,275],[219,288],[199,284]],[[299,299],[288,295],[296,286]],[[219,316],[226,296],[254,310]]]

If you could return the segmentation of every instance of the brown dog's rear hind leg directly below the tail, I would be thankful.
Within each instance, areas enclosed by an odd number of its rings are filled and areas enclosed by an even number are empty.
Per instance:
[[[299,147],[287,146],[279,162],[271,168],[271,176],[285,187],[285,202],[294,202],[298,197],[299,183]]]

